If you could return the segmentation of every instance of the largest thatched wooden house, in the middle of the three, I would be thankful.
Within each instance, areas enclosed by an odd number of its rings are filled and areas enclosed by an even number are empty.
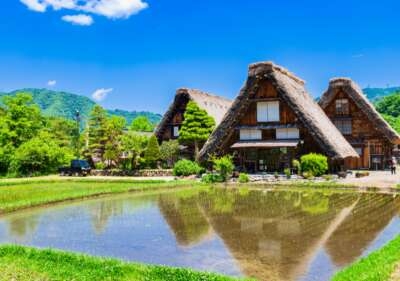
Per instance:
[[[328,156],[334,170],[343,169],[345,159],[358,155],[304,84],[272,62],[250,65],[244,87],[203,146],[200,160],[232,154],[240,170],[274,172],[316,152]]]

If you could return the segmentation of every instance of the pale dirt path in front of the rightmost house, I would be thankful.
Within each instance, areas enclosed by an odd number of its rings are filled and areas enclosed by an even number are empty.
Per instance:
[[[370,171],[370,175],[364,178],[356,178],[355,173],[349,175],[346,179],[339,180],[344,184],[355,185],[359,187],[378,187],[378,188],[394,188],[400,184],[400,170],[396,175],[392,175],[390,171]]]

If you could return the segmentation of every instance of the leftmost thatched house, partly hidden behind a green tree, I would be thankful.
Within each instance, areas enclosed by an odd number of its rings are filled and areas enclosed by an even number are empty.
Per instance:
[[[220,96],[211,95],[195,89],[181,88],[176,91],[175,98],[165,112],[155,134],[159,142],[178,139],[179,130],[184,120],[186,105],[194,101],[200,108],[214,118],[216,126],[221,122],[230,108],[232,101]]]

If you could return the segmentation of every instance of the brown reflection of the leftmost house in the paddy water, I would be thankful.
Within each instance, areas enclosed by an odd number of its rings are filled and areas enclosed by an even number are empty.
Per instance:
[[[213,235],[196,197],[162,195],[158,206],[179,245],[191,246]]]

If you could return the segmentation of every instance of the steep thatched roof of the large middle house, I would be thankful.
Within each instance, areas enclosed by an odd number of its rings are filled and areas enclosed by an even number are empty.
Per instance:
[[[251,102],[250,97],[257,93],[259,82],[262,80],[271,81],[280,97],[294,111],[302,125],[308,129],[329,157],[334,159],[358,157],[356,151],[306,92],[303,80],[272,62],[261,62],[250,65],[244,87],[221,124],[214,130],[200,151],[201,160],[206,160],[211,154],[218,154],[217,152],[226,145],[228,136],[232,134],[235,126],[246,113]]]

